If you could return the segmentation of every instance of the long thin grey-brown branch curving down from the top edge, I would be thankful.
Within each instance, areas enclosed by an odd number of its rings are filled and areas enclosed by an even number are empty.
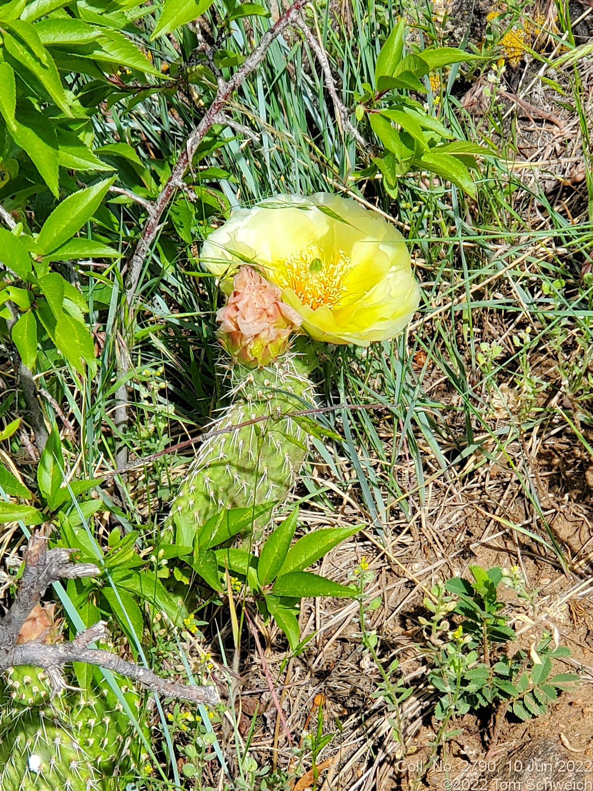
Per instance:
[[[172,170],[171,176],[168,178],[167,184],[164,185],[160,195],[158,195],[156,201],[151,204],[148,209],[149,216],[142,229],[142,234],[138,240],[136,249],[131,256],[130,267],[127,273],[125,283],[126,299],[123,304],[123,316],[121,317],[121,324],[123,327],[126,327],[127,322],[130,324],[132,323],[131,314],[133,313],[134,298],[136,296],[138,281],[140,279],[140,274],[142,274],[142,267],[144,266],[146,255],[148,255],[150,245],[161,229],[161,218],[164,210],[167,208],[176,190],[183,188],[183,177],[185,176],[187,168],[191,165],[196,149],[203,138],[206,137],[210,128],[220,119],[220,114],[223,112],[225,104],[232,96],[232,93],[234,93],[244,82],[245,78],[259,66],[270,44],[272,44],[285,28],[298,18],[301,9],[306,6],[307,2],[308,0],[295,0],[293,5],[281,15],[278,21],[263,34],[257,47],[251,51],[250,55],[247,55],[243,64],[232,75],[232,78],[230,78],[229,81],[219,81],[216,96],[212,104],[210,104],[210,107],[202,116],[202,120],[198,123],[198,126],[194,128],[187,138],[185,147],[179,155],[179,159]],[[129,330],[124,330],[125,333],[128,331]],[[121,346],[117,377],[118,379],[123,378],[127,380],[127,375],[130,372],[130,355],[127,350],[128,341],[126,337],[123,337]],[[114,421],[117,429],[123,432],[127,425],[127,386],[125,384],[121,385],[115,393]],[[123,467],[126,463],[127,448],[125,444],[122,443],[115,455],[115,464],[118,467]]]

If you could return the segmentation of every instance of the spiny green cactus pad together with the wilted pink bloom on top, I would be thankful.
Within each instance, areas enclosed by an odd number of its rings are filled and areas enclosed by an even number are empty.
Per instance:
[[[232,403],[209,426],[229,433],[202,445],[172,503],[172,520],[183,517],[196,531],[221,509],[285,498],[308,451],[308,434],[291,415],[315,405],[312,355],[287,351],[300,317],[251,267],[233,283],[217,313],[219,339],[232,357]]]

